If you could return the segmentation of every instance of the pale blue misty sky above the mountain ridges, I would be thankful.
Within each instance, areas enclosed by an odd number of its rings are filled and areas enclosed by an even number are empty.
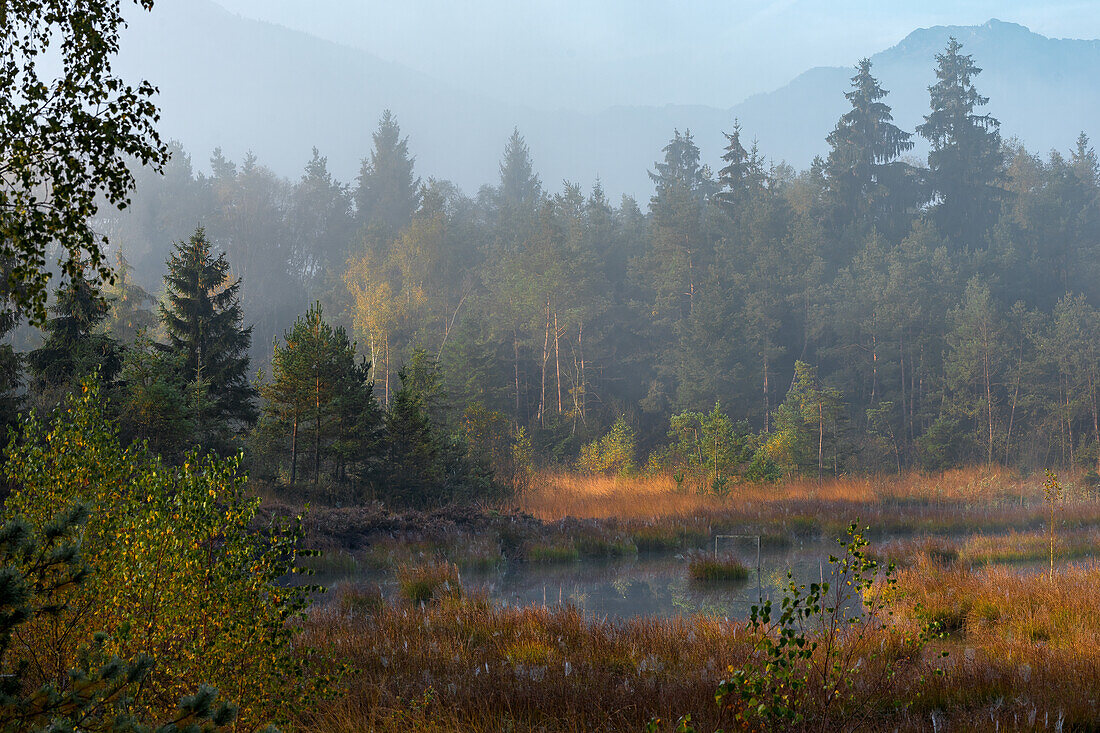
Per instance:
[[[217,0],[460,88],[537,108],[729,107],[928,25],[999,18],[1100,37],[1100,1]]]

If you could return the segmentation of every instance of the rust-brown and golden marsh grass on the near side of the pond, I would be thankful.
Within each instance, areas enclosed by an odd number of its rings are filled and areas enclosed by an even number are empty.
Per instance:
[[[877,658],[910,658],[912,628],[930,619],[950,634],[886,687],[875,667],[886,661],[866,658],[847,688],[853,707],[822,724],[811,696],[804,729],[921,731],[934,715],[941,730],[1054,730],[1059,720],[1063,730],[1091,730],[1100,566],[1063,568],[1049,583],[1045,568],[945,566],[923,556],[898,581],[877,591],[899,624],[868,630],[864,644],[882,650]],[[571,606],[501,608],[457,594],[409,606],[355,588],[311,611],[305,641],[310,654],[355,669],[342,696],[298,721],[326,733],[636,732],[653,716],[684,712],[713,730],[717,680],[745,665],[752,646],[745,624],[716,617],[612,622]],[[842,634],[837,643],[851,641]],[[934,663],[938,649],[949,656]],[[946,674],[933,674],[933,664]]]

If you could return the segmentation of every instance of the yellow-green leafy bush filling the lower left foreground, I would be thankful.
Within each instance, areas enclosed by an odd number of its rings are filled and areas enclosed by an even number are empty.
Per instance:
[[[305,704],[311,683],[290,643],[306,591],[278,582],[293,567],[297,529],[254,532],[257,502],[245,497],[238,459],[190,456],[172,468],[122,448],[88,384],[52,425],[29,418],[6,459],[15,486],[6,516],[43,527],[75,504],[91,512],[80,540],[89,579],[14,642],[42,681],[66,679],[79,647],[102,631],[108,656],[154,659],[136,712],[170,713],[202,683],[240,705],[238,731]]]

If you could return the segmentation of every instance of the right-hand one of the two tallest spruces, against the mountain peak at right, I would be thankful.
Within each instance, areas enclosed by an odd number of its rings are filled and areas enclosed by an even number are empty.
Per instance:
[[[928,169],[936,194],[935,221],[957,249],[985,242],[998,215],[1003,173],[1001,123],[977,109],[989,102],[975,89],[981,73],[954,37],[936,54],[932,113],[916,131],[932,143]]]

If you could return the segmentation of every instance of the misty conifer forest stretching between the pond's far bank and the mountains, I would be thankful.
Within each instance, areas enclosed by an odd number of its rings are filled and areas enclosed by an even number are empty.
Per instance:
[[[473,196],[422,179],[389,112],[352,184],[316,150],[288,182],[220,151],[206,175],[174,146],[95,221],[119,265],[106,305],[74,281],[41,335],[9,339],[9,420],[96,364],[127,435],[163,452],[248,446],[273,480],[369,493],[384,481],[362,457],[388,449],[349,435],[370,442],[410,383],[432,393],[432,451],[468,444],[509,479],[516,456],[623,470],[600,456],[616,440],[632,470],[708,486],[1094,468],[1096,153],[1084,132],[1065,154],[1002,140],[960,44],[930,63],[914,132],[865,61],[810,169],[770,162],[736,121],[718,161],[678,130],[641,204],[544,184],[519,131]],[[189,251],[208,272],[185,274]],[[188,287],[222,281],[199,364]]]

